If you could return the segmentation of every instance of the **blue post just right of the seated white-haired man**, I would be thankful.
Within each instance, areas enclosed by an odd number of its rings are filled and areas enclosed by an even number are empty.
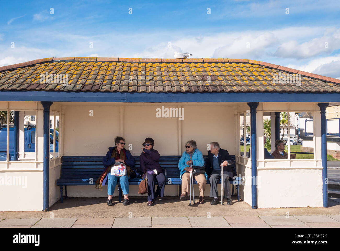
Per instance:
[[[250,142],[251,142],[251,158],[252,158],[252,208],[257,208],[257,155],[256,155],[256,108],[258,102],[247,103],[250,107]]]

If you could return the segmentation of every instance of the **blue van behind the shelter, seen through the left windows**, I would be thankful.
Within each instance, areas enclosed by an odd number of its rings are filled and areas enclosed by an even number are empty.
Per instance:
[[[58,152],[59,133],[55,132],[55,152]],[[24,152],[35,152],[35,127],[25,127],[24,129]],[[53,129],[50,129],[50,152],[53,152]],[[7,153],[7,126],[0,128],[0,161],[6,160]],[[10,160],[14,156],[14,128],[10,127]]]

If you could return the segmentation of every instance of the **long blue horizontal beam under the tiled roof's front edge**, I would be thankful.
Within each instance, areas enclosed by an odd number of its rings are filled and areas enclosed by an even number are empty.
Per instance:
[[[1,90],[0,101],[52,102],[338,102],[340,93],[119,93]]]

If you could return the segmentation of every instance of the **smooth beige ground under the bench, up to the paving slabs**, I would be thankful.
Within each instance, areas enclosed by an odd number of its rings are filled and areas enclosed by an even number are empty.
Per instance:
[[[187,197],[188,198],[188,197]],[[258,208],[252,209],[244,201],[233,197],[233,204],[210,205],[211,199],[206,198],[204,204],[189,206],[189,200],[180,201],[178,197],[158,199],[153,206],[147,206],[146,198],[130,197],[131,204],[123,206],[118,197],[113,198],[114,205],[107,206],[106,198],[67,198],[64,203],[56,202],[48,212],[0,212],[1,219],[15,218],[54,218],[71,217],[180,217],[180,216],[274,216],[274,215],[340,215],[340,203],[328,200],[328,207],[291,207],[291,208]]]

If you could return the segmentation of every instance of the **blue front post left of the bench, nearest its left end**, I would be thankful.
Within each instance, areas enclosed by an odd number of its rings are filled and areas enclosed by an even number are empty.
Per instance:
[[[50,181],[50,107],[53,102],[40,102],[44,107],[44,186],[43,211],[49,208],[49,181]]]

